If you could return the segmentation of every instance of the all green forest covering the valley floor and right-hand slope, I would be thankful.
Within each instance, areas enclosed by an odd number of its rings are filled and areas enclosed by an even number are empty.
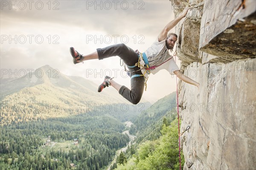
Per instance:
[[[2,124],[0,170],[176,170],[179,166],[175,93],[137,115],[91,111]],[[131,111],[130,111],[131,112]],[[125,127],[124,121],[131,121]],[[182,155],[182,153],[181,153]],[[184,164],[183,158],[182,164]]]

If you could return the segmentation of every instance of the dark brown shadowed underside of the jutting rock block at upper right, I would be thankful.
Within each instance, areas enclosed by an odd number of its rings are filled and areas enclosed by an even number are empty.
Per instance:
[[[256,57],[256,12],[214,37],[200,50],[218,56],[214,62]],[[212,62],[213,63],[213,62]]]

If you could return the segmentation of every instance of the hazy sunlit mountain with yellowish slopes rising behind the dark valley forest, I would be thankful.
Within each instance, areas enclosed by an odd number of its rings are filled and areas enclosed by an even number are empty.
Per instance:
[[[42,66],[23,78],[1,79],[0,124],[77,115],[89,111],[117,115],[117,112],[120,114],[119,111],[122,111],[122,105],[128,106],[128,111],[122,112],[122,118],[125,117],[124,114],[138,114],[132,112],[134,106],[115,89],[106,88],[101,93],[97,89],[97,84],[85,78],[64,75],[49,65]],[[145,99],[142,102],[145,108],[150,105]],[[120,118],[120,115],[117,116]]]

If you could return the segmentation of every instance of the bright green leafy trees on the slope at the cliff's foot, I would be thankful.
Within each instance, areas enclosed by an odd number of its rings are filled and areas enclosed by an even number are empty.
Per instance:
[[[135,151],[133,146],[129,147],[126,154],[120,154],[112,170],[179,170],[177,129],[177,118],[170,124],[164,119],[160,138],[143,142]],[[181,167],[183,165],[184,157],[181,152]]]

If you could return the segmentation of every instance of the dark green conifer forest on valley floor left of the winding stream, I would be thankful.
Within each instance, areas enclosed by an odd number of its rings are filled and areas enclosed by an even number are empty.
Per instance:
[[[78,170],[100,170],[128,143],[124,129],[119,120],[96,113],[4,126],[0,132],[0,169],[63,170],[75,164]],[[50,146],[47,140],[51,140]],[[65,142],[68,145],[62,144]]]

